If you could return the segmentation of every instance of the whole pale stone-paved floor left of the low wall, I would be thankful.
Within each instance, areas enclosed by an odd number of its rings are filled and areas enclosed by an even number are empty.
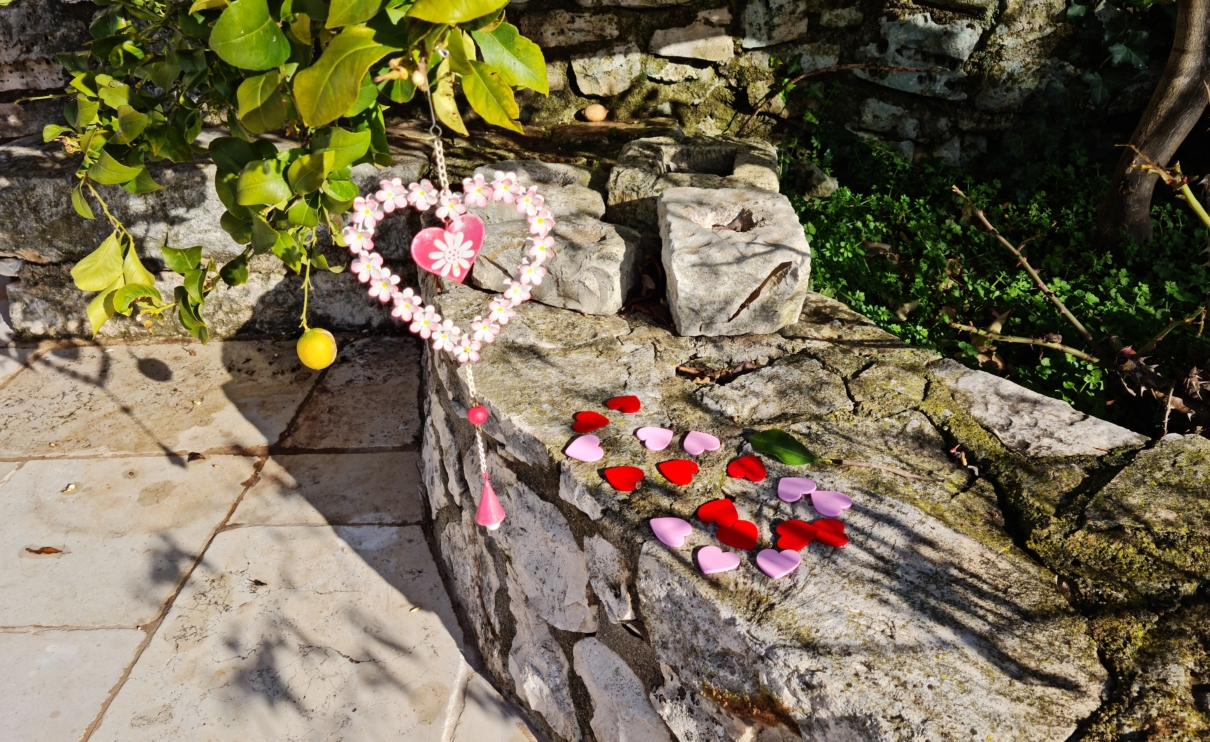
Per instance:
[[[430,551],[417,360],[0,347],[0,738],[535,740]]]

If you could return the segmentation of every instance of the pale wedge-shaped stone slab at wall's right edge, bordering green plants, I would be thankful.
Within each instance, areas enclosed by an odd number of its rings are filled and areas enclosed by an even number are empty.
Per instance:
[[[955,361],[938,361],[929,370],[970,416],[1007,448],[1026,456],[1101,456],[1147,442],[1139,433],[1076,412],[1066,402]]]

